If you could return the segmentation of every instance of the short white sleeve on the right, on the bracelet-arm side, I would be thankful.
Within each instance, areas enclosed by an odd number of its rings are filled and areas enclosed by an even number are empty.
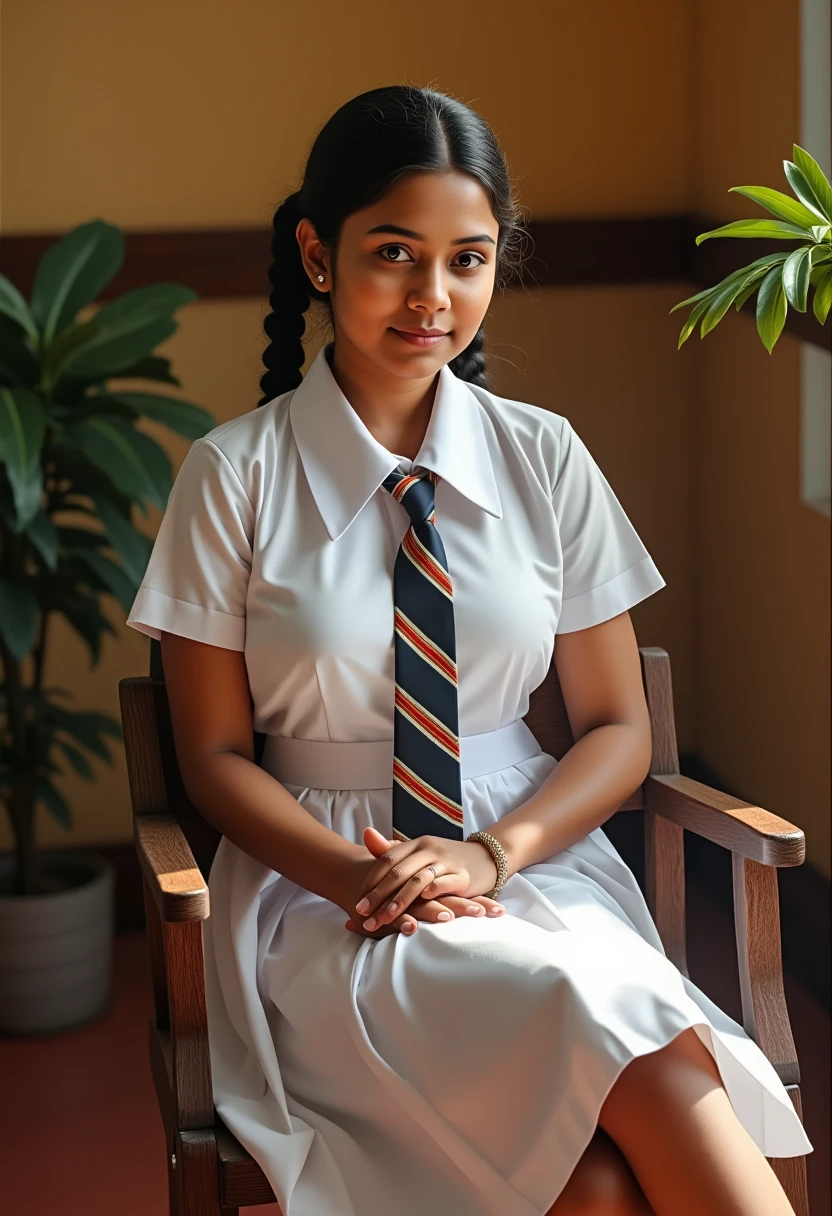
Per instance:
[[[563,601],[556,634],[573,634],[626,612],[665,582],[567,418],[557,466],[552,505],[563,554]]]

